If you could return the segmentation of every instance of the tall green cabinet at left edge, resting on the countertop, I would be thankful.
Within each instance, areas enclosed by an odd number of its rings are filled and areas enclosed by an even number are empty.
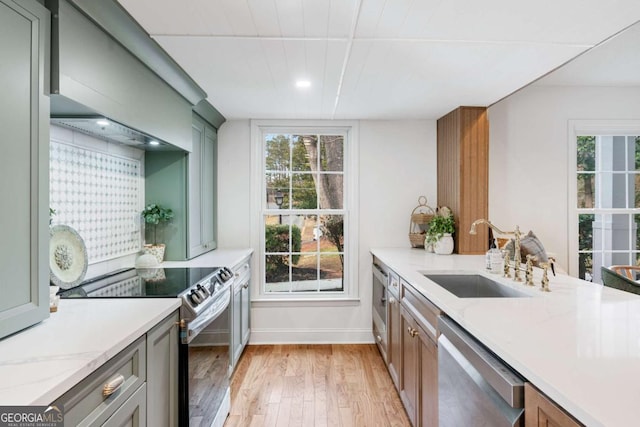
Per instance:
[[[0,0],[0,338],[49,315],[49,24]]]

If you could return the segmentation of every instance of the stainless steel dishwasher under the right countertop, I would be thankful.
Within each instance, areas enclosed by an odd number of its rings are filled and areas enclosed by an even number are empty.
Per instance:
[[[448,317],[438,319],[440,427],[524,425],[524,379]]]

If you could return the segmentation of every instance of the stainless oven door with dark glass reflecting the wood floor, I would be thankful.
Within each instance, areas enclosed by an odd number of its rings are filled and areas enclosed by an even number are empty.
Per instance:
[[[187,323],[180,344],[180,426],[222,426],[229,413],[231,287]]]

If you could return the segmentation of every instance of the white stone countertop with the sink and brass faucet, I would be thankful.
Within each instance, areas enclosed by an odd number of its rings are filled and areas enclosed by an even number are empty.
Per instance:
[[[540,292],[541,270],[532,289],[485,273],[482,255],[371,253],[582,423],[637,425],[640,296],[551,273],[551,292]],[[424,271],[480,273],[532,297],[458,298]]]

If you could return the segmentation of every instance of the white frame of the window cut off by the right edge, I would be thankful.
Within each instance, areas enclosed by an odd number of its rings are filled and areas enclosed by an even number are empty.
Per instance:
[[[569,274],[579,275],[579,224],[578,216],[591,215],[639,215],[640,208],[578,208],[578,136],[638,136],[640,135],[640,120],[569,120],[568,121],[568,196],[567,197],[567,233],[568,238],[568,267]],[[594,171],[598,176],[598,171]],[[596,179],[597,183],[597,179]],[[600,191],[600,190],[597,190]],[[628,252],[631,252],[629,250]]]

